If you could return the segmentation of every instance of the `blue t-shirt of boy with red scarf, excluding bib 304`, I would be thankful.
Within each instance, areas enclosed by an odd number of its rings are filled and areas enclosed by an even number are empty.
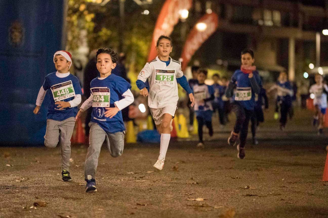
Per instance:
[[[253,71],[253,76],[257,82],[258,86],[262,86],[261,78],[257,71]],[[254,110],[255,106],[255,93],[253,89],[251,88],[251,82],[250,78],[248,78],[248,74],[243,73],[241,70],[236,70],[235,73],[231,77],[231,83],[237,82],[236,90],[238,92],[238,88],[241,88],[240,90],[246,90],[247,88],[251,89],[252,94],[250,96],[249,100],[239,100],[237,101],[243,108],[247,110]],[[233,101],[236,101],[236,93],[233,96]]]

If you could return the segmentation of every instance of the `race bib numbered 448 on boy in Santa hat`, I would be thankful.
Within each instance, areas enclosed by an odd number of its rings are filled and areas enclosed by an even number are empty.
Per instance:
[[[75,96],[72,80],[53,85],[50,89],[55,102]]]

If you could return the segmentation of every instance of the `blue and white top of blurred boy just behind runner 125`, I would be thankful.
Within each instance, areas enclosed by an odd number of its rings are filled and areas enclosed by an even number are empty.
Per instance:
[[[213,110],[211,96],[214,95],[213,86],[206,84],[195,84],[193,87],[195,96],[194,110]]]

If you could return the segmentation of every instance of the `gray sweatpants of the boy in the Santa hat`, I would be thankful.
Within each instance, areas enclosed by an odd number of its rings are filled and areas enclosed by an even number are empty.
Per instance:
[[[47,119],[47,130],[44,144],[48,148],[57,146],[60,135],[62,170],[70,170],[71,138],[75,125],[75,118],[70,117],[63,121]]]

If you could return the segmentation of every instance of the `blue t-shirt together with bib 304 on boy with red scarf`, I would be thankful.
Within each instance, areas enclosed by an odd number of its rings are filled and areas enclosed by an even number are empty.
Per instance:
[[[231,77],[231,83],[236,83],[236,92],[233,96],[233,101],[237,101],[242,107],[247,110],[253,110],[255,106],[255,93],[252,90],[249,74],[243,73],[241,70],[236,70]],[[259,86],[262,86],[261,78],[257,71],[253,71],[253,76]]]

